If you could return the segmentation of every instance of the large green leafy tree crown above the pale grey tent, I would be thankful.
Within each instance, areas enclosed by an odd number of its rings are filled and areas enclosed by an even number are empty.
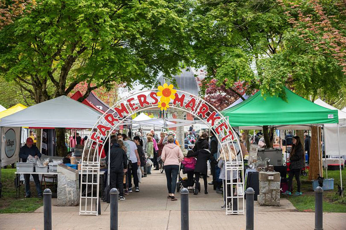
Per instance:
[[[37,1],[0,30],[0,74],[36,103],[83,81],[84,98],[113,82],[149,85],[187,60],[189,9],[189,0]]]

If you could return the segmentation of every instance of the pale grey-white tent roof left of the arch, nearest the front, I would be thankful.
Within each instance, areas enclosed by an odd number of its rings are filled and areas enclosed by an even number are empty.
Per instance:
[[[35,128],[92,128],[101,113],[60,96],[1,118],[0,126]]]

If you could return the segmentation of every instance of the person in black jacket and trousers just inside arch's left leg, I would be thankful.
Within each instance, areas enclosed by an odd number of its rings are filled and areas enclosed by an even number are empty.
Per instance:
[[[123,178],[124,173],[127,171],[127,155],[126,152],[122,148],[120,148],[120,145],[117,143],[116,138],[113,138],[110,143],[110,154],[106,156],[107,163],[108,156],[110,156],[110,185],[111,188],[117,188],[119,190],[119,200],[125,200]]]

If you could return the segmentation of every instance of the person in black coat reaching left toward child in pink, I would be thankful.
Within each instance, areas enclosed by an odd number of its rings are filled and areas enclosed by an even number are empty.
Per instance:
[[[207,186],[207,161],[210,159],[210,151],[209,151],[209,144],[204,144],[202,146],[201,150],[198,150],[196,152],[190,152],[186,157],[197,157],[197,162],[195,164],[194,174],[195,174],[195,192],[194,195],[198,194],[199,189],[199,176],[203,175],[203,181],[204,181],[204,194],[208,194]]]

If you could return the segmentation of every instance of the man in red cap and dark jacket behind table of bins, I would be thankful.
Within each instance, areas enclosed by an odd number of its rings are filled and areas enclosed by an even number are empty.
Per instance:
[[[22,146],[19,150],[19,157],[22,159],[22,162],[26,162],[29,155],[35,157],[35,159],[41,157],[41,153],[38,150],[38,148],[33,145],[34,140],[31,137],[28,137],[26,139],[26,144]],[[42,190],[41,190],[41,184],[40,180],[38,179],[38,174],[31,174],[34,178],[36,190],[37,190],[37,197],[42,197]],[[30,198],[30,174],[24,174],[25,179],[25,197]]]

